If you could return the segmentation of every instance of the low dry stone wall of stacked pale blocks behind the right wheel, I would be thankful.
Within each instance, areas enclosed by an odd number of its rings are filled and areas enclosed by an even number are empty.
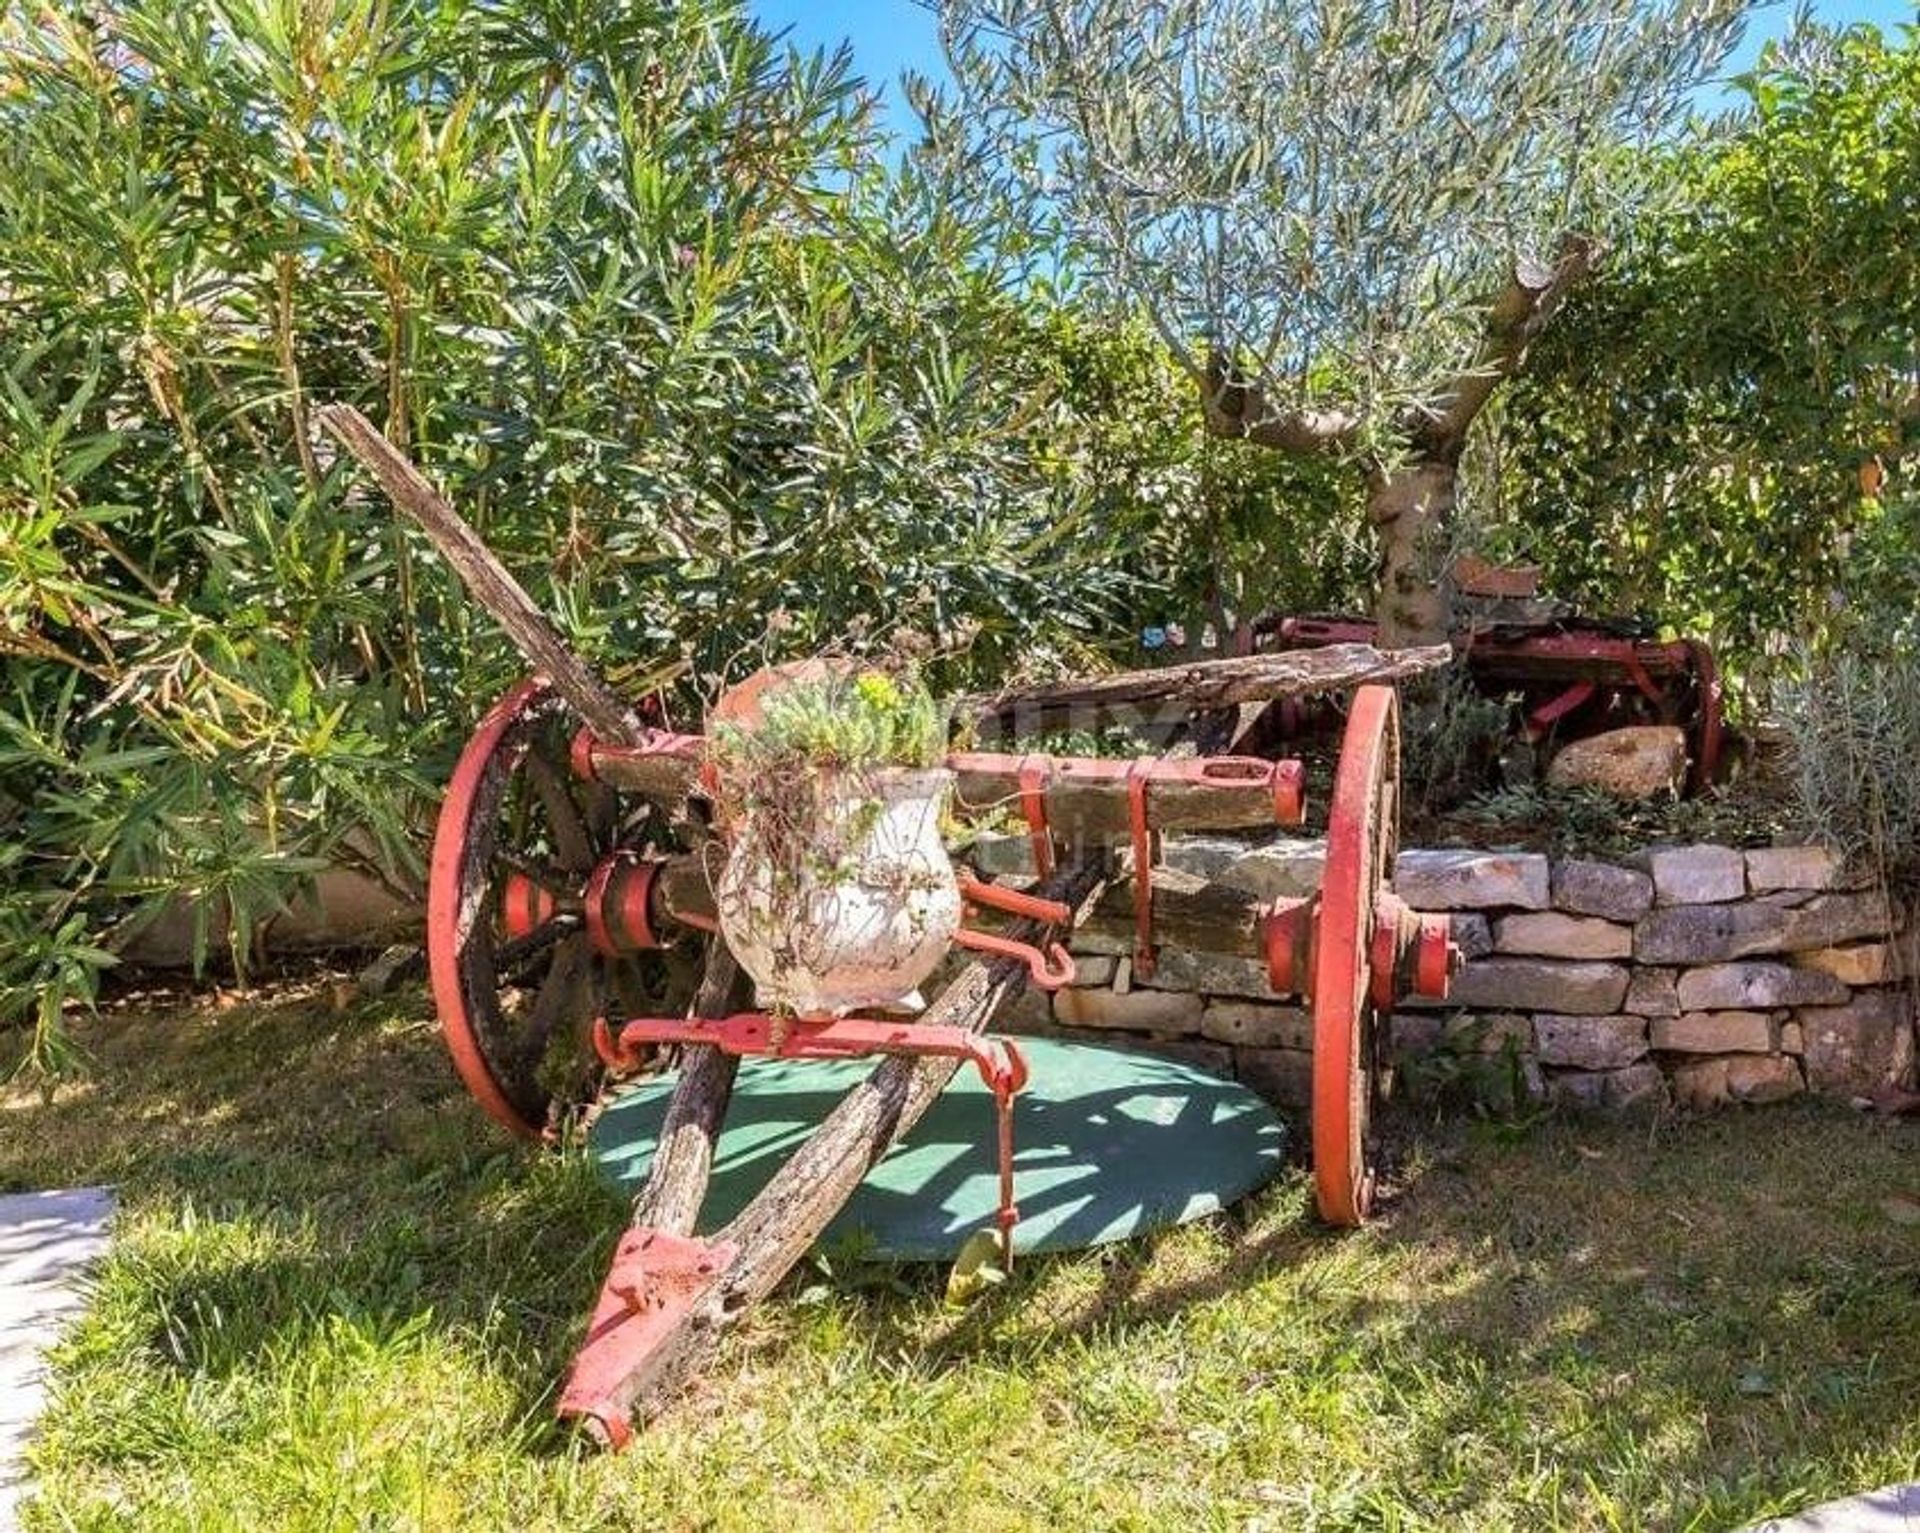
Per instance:
[[[985,847],[1018,872],[1023,841]],[[1319,884],[1315,841],[1169,840],[1183,872],[1252,893]],[[1657,847],[1624,863],[1402,851],[1398,893],[1448,911],[1469,962],[1442,1005],[1388,1024],[1402,1062],[1500,1055],[1532,1095],[1596,1108],[1859,1099],[1914,1078],[1916,934],[1820,847]],[[1016,1030],[1098,1032],[1236,1074],[1304,1105],[1313,1024],[1263,964],[1083,937],[1079,980],[1029,993]]]

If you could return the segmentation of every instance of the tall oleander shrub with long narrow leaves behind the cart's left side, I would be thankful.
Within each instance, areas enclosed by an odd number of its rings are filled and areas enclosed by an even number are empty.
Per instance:
[[[1131,448],[952,206],[726,0],[10,8],[0,1007],[169,897],[240,962],[326,863],[417,878],[520,665],[321,402],[682,717],[862,624],[941,684],[1123,634]]]

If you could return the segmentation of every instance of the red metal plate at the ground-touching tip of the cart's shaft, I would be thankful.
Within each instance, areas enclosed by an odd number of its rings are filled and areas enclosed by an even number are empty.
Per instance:
[[[566,1374],[557,1410],[591,1422],[607,1447],[624,1448],[634,1431],[620,1389],[682,1324],[726,1272],[737,1247],[666,1229],[634,1228],[620,1235],[612,1268],[601,1283],[588,1339]]]

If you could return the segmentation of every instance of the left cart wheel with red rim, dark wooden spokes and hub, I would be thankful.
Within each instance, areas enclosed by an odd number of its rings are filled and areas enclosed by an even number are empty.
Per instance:
[[[572,774],[578,728],[543,680],[516,686],[461,751],[434,830],[434,1007],[467,1089],[524,1137],[591,1099],[589,1028],[611,999],[630,1010],[678,999],[662,995],[680,976],[657,955],[609,955],[589,930],[586,895],[626,866],[614,853],[637,845],[649,811]]]

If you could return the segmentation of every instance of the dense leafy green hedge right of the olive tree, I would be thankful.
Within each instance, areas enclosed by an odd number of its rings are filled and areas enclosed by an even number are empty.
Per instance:
[[[1920,29],[1805,35],[1741,88],[1542,334],[1488,521],[1764,682],[1786,636],[1914,634]]]

